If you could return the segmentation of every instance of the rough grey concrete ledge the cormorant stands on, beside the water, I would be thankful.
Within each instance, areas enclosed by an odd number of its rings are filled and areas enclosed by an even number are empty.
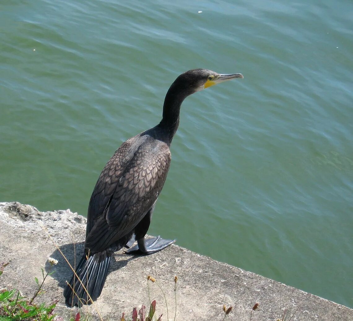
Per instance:
[[[47,271],[48,257],[59,260],[52,277],[44,283],[46,293],[37,302],[59,299],[58,315],[68,320],[77,312],[65,306],[63,290],[72,272],[59,252],[73,264],[83,253],[86,219],[66,211],[40,212],[17,202],[0,203],[0,262],[10,262],[0,277],[0,288],[20,290],[25,296],[36,291],[34,277],[41,279],[41,267]],[[50,235],[50,236],[49,236]],[[55,246],[56,244],[56,246]],[[300,291],[285,284],[243,271],[187,249],[172,245],[149,256],[115,253],[102,295],[94,305],[81,308],[94,320],[120,320],[122,312],[131,316],[133,307],[149,305],[147,275],[156,278],[165,293],[169,320],[174,320],[174,276],[177,282],[175,320],[222,320],[223,304],[236,307],[226,320],[250,320],[253,305],[259,308],[252,320],[340,320],[352,321],[353,310]],[[156,283],[149,282],[151,299],[156,299],[156,314],[167,320],[164,297]],[[148,310],[148,309],[147,309]]]

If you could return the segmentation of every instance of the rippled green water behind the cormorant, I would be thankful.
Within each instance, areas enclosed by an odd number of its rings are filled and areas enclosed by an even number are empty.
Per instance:
[[[352,16],[349,0],[1,0],[0,201],[85,215],[181,72],[241,72],[183,103],[149,233],[353,307]]]

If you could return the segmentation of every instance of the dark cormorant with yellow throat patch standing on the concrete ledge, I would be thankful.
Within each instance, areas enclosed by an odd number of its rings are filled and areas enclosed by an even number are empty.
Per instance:
[[[137,245],[127,253],[158,252],[175,240],[145,239],[152,212],[166,181],[170,144],[179,126],[180,105],[194,92],[243,78],[242,74],[219,74],[193,69],[181,74],[170,86],[161,122],[125,141],[109,159],[93,190],[87,216],[85,253],[64,292],[66,304],[89,304],[101,294],[110,257],[122,247]],[[87,294],[88,292],[88,294]]]

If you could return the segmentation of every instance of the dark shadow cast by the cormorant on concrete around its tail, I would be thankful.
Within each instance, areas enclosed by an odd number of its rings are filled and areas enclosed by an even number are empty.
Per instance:
[[[58,281],[59,287],[62,287],[62,289],[65,289],[67,282],[70,281],[73,275],[73,271],[71,267],[68,265],[67,261],[70,263],[72,267],[75,267],[79,263],[80,259],[82,258],[83,253],[84,253],[83,242],[64,244],[56,248],[56,250],[50,255],[51,258],[58,260],[58,264],[56,264],[55,266],[52,266],[47,261],[44,269],[46,272],[53,271],[53,274],[51,274],[51,276],[54,279],[56,279],[56,281]],[[110,259],[108,275],[111,272],[119,270],[120,268],[126,266],[128,262],[138,258],[139,256],[141,255],[127,255],[121,252],[115,253],[112,256],[112,259]],[[121,258],[121,257],[123,258],[122,260],[120,259],[117,260],[118,258]]]

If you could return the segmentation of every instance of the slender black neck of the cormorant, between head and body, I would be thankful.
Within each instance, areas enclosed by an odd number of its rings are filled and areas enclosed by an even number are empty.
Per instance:
[[[173,84],[174,85],[174,84]],[[177,86],[170,86],[163,104],[163,118],[159,123],[159,127],[168,136],[169,145],[172,143],[173,136],[177,132],[179,126],[180,106],[184,99],[190,95],[180,91]]]

